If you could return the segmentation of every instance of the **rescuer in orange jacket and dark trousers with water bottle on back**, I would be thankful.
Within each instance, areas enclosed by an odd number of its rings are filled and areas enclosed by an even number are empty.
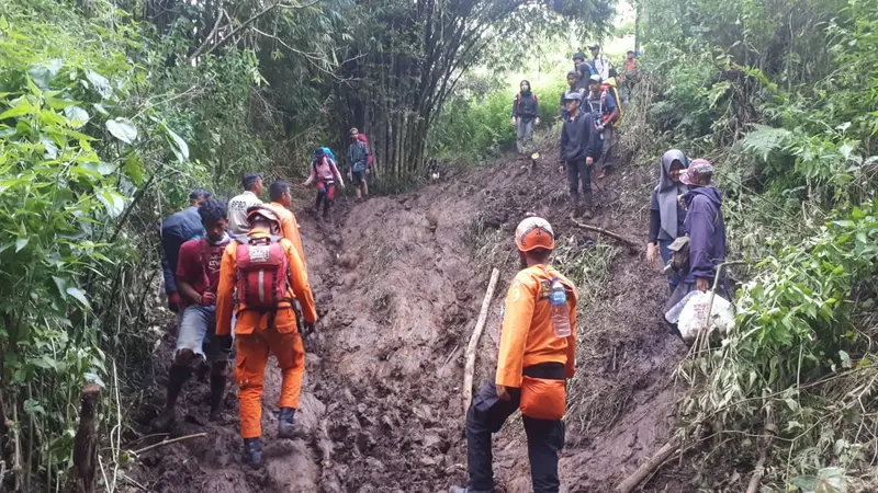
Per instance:
[[[576,288],[549,265],[554,233],[545,219],[529,217],[516,230],[522,271],[506,295],[497,374],[473,397],[466,412],[470,484],[452,493],[494,491],[491,438],[521,410],[528,438],[533,491],[556,493],[558,454],[564,446],[566,380],[573,378],[576,354]],[[551,285],[566,290],[571,334],[555,336],[549,300]]]

